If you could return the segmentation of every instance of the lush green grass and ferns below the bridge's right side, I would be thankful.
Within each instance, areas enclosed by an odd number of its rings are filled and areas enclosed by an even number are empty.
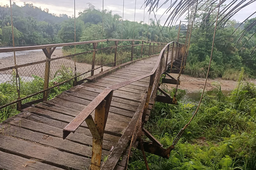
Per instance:
[[[241,78],[242,76],[240,76]],[[205,94],[199,112],[165,159],[146,153],[151,170],[256,169],[256,85],[239,83],[229,96],[221,88]],[[166,90],[172,95],[173,90]],[[145,124],[164,147],[169,147],[197,106],[182,97],[177,105],[156,102]],[[144,140],[148,140],[145,138]],[[134,149],[129,170],[146,169],[141,151]]]

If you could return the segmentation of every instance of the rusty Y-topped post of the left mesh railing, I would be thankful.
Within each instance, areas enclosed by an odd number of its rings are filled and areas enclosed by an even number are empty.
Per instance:
[[[43,49],[43,52],[46,56],[46,59],[51,59],[51,56],[54,52],[56,47],[54,48],[45,48]],[[49,87],[49,77],[50,77],[50,65],[51,61],[45,62],[45,71],[44,71],[44,90]],[[43,92],[43,100],[46,101],[48,98],[48,90],[45,90]]]

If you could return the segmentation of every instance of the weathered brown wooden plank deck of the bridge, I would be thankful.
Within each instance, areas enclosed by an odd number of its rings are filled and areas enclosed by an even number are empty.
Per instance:
[[[82,123],[65,140],[62,139],[63,128],[105,87],[150,73],[157,58],[138,61],[94,82],[72,87],[1,123],[0,169],[89,169],[92,135],[87,124]],[[102,159],[126,130],[146,94],[148,83],[149,78],[145,78],[114,91],[103,137]],[[148,113],[151,108],[152,105]],[[94,113],[91,115],[94,118]],[[124,166],[120,163],[116,169],[124,169]]]

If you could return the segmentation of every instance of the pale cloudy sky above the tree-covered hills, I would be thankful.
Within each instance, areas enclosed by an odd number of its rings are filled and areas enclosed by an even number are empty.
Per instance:
[[[26,3],[33,3],[34,6],[41,7],[42,9],[48,8],[49,13],[54,13],[57,16],[59,14],[67,14],[68,16],[74,15],[74,0],[12,0],[12,2],[16,2],[17,5],[22,6],[24,4],[24,1]],[[164,2],[165,0],[160,0],[161,2]],[[179,0],[178,0],[179,1]],[[228,0],[227,2],[230,2],[231,0]],[[88,3],[93,4],[96,9],[102,10],[102,0],[76,0],[76,15],[78,16],[78,13],[80,11],[83,11],[85,8],[88,7]],[[135,0],[125,0],[125,7],[124,7],[124,20],[130,20],[133,21],[134,19],[134,7],[135,7]],[[135,20],[140,22],[143,21],[143,15],[144,15],[144,8],[143,8],[144,0],[137,0],[136,2],[136,16]],[[170,3],[170,2],[169,2]],[[161,14],[165,12],[168,6],[170,4],[167,3],[164,6],[160,8],[160,10],[157,12],[157,18],[161,17]],[[0,0],[0,5],[9,4],[10,0]],[[236,19],[237,21],[243,21],[246,19],[249,15],[251,15],[253,12],[255,12],[255,6],[249,5],[243,10],[241,10],[236,16],[234,16],[232,19]],[[123,15],[123,0],[104,0],[104,9],[110,11],[112,10],[113,14],[119,14],[120,16]],[[145,9],[145,23],[148,22],[148,13],[147,8]],[[254,15],[253,17],[256,17]],[[150,15],[150,18],[154,18],[153,14]],[[165,20],[167,18],[167,14],[163,15],[161,20],[161,25],[164,24]],[[183,19],[183,18],[181,18]]]

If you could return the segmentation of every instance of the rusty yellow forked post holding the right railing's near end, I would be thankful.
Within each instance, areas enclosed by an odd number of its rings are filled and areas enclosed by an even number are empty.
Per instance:
[[[113,91],[96,107],[95,117],[90,116],[85,121],[93,135],[93,147],[91,155],[91,170],[100,170],[103,134],[106,126],[106,121],[109,114],[109,108],[113,96]]]

